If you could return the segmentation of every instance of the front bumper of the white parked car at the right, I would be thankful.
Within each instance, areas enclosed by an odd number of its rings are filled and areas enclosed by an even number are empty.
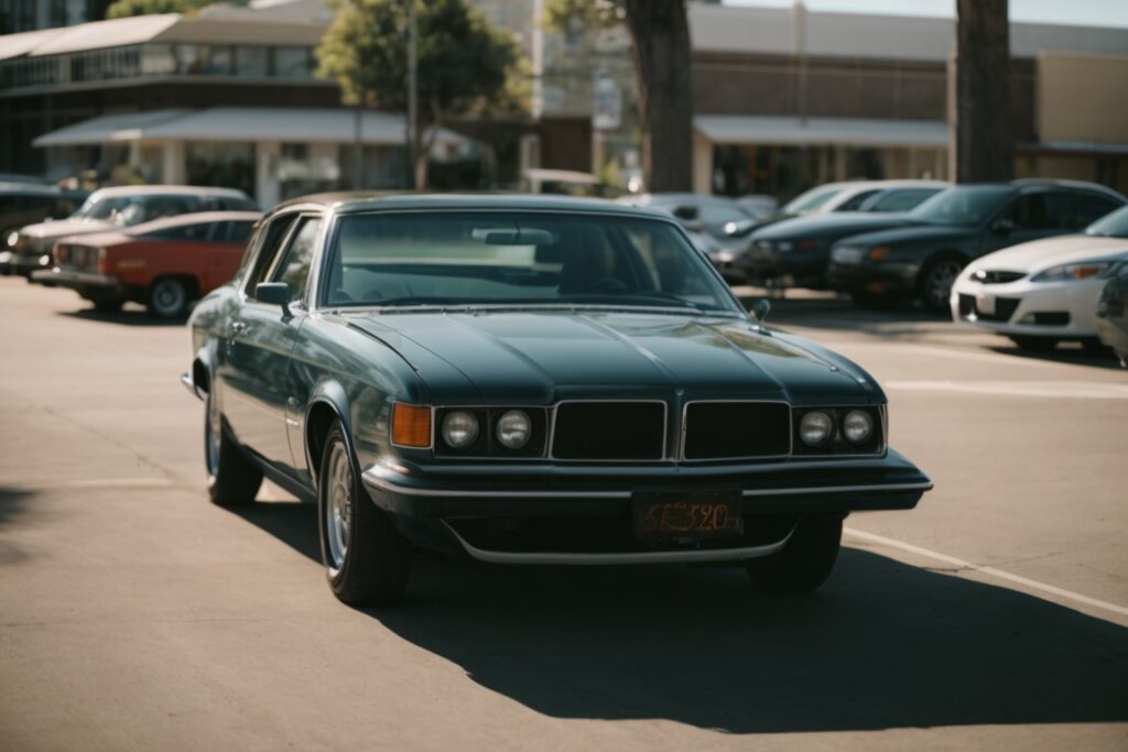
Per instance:
[[[952,285],[952,320],[1002,335],[1089,338],[1098,335],[1096,301],[1107,280]]]

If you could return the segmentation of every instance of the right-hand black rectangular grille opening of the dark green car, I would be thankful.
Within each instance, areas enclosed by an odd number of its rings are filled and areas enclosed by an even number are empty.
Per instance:
[[[787,454],[791,408],[784,402],[691,402],[685,436],[687,460]]]

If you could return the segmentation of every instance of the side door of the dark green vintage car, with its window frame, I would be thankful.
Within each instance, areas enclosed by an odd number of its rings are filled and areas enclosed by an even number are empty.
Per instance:
[[[270,246],[262,249],[244,287],[244,302],[228,322],[227,357],[221,375],[224,415],[241,444],[288,471],[292,468],[285,431],[287,369],[306,317],[301,301],[320,224],[319,215],[296,215],[289,218],[284,237],[282,231],[267,231],[265,242]],[[290,284],[293,292],[290,316],[279,306],[255,299],[259,282]]]

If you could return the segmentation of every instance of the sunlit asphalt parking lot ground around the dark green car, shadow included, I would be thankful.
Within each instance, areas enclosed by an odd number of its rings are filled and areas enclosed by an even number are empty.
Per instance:
[[[187,331],[0,278],[0,749],[1128,747],[1128,373],[832,299],[935,480],[822,591],[421,558],[337,603],[314,508],[208,503]]]

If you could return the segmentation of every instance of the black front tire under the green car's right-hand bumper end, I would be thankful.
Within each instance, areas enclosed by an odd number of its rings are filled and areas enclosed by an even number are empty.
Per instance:
[[[841,517],[804,517],[782,551],[744,563],[748,576],[759,590],[774,593],[810,592],[830,576],[838,558],[841,537]]]

